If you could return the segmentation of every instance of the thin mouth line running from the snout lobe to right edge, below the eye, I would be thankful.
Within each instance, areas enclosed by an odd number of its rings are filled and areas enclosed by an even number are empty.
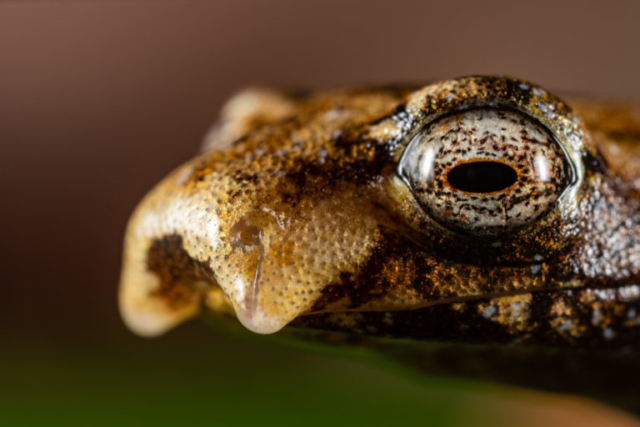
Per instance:
[[[420,310],[428,307],[435,306],[444,306],[451,304],[459,304],[459,303],[468,303],[475,302],[479,300],[489,300],[495,298],[503,298],[503,297],[511,297],[516,295],[533,295],[541,292],[567,292],[567,291],[606,291],[606,290],[618,290],[621,288],[625,288],[628,286],[635,286],[638,288],[638,292],[640,293],[640,286],[638,285],[628,285],[628,284],[619,284],[615,286],[567,286],[567,287],[543,287],[538,289],[521,289],[514,291],[505,291],[505,292],[494,292],[482,295],[468,295],[468,296],[458,296],[458,297],[449,297],[442,298],[435,301],[427,301],[421,304],[414,304],[411,306],[405,307],[397,307],[397,306],[380,306],[380,307],[367,307],[367,308],[346,308],[346,309],[337,309],[337,310],[316,310],[309,311],[306,313],[300,314],[302,316],[315,316],[320,314],[332,314],[332,313],[373,313],[373,312],[400,312],[400,311],[413,311]]]

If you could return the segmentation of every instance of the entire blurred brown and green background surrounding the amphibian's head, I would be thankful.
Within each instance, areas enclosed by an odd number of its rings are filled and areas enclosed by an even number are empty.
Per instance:
[[[131,335],[128,215],[249,85],[510,74],[640,97],[640,3],[0,2],[0,425],[637,425],[580,399],[221,335]]]

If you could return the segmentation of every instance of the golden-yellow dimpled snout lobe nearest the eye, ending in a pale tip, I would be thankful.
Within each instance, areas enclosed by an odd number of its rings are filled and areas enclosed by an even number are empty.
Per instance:
[[[369,258],[377,224],[363,215],[364,205],[347,199],[334,195],[313,208],[251,211],[231,225],[231,262],[214,266],[215,275],[247,329],[279,331]]]

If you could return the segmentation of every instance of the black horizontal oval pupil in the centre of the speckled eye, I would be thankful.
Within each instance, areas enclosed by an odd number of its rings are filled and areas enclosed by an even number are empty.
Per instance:
[[[502,191],[517,180],[518,173],[511,166],[492,161],[463,163],[447,175],[451,187],[468,193]]]

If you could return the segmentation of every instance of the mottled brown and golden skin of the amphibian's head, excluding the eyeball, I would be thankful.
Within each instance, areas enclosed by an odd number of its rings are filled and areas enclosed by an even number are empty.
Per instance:
[[[405,148],[425,126],[474,108],[524,113],[572,167],[554,206],[508,233],[441,225],[399,176]],[[609,364],[607,378],[638,378],[640,107],[565,103],[506,77],[307,96],[246,92],[204,152],[134,214],[120,302],[143,335],[204,305],[261,333],[292,324],[458,343],[468,355],[487,345],[583,360],[591,351],[624,353],[619,373],[609,356],[593,356],[585,369]],[[512,365],[502,379],[581,392],[524,380],[518,369],[527,367]],[[618,388],[624,405],[640,410],[628,403],[640,400],[639,386]]]

